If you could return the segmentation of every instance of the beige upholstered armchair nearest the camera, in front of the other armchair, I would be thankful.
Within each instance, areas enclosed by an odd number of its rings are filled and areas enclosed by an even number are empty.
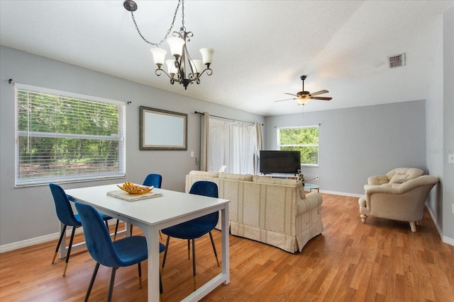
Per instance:
[[[406,180],[402,185],[380,185],[369,187],[358,200],[360,217],[363,223],[367,216],[408,221],[412,232],[416,232],[417,221],[423,218],[426,198],[438,178],[422,175]]]

